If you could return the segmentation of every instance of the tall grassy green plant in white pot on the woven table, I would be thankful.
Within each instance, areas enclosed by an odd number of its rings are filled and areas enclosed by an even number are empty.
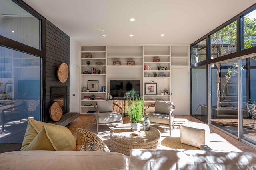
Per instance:
[[[128,106],[126,106],[126,113],[131,119],[132,131],[140,131],[140,121],[143,117],[144,98],[138,94],[135,96],[125,96]]]

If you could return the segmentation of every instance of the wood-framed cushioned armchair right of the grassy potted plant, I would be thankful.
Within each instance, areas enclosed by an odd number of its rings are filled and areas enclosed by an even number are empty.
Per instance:
[[[154,112],[150,112],[146,115],[146,110],[149,107],[155,107]],[[154,104],[149,105],[144,109],[144,115],[148,117],[150,123],[158,123],[169,125],[170,136],[171,136],[171,126],[174,128],[174,115],[173,111],[175,106],[172,102],[160,102],[156,101]]]

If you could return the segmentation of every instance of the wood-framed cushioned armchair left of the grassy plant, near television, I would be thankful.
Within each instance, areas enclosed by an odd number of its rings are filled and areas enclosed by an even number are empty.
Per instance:
[[[122,112],[114,112],[113,105],[118,106]],[[113,103],[113,100],[97,101],[97,105],[94,105],[94,108],[96,110],[95,123],[97,126],[97,133],[99,133],[100,125],[124,123],[124,109],[118,104]]]

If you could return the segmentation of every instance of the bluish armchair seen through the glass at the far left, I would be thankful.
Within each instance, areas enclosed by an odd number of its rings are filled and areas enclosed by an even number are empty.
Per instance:
[[[1,108],[0,108],[1,109]],[[0,111],[0,122],[2,123],[2,132],[4,131],[4,123],[22,119],[28,119],[26,100],[16,99],[12,105],[5,106]]]

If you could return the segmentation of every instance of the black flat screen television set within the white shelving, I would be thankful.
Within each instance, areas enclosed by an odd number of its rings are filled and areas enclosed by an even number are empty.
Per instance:
[[[140,95],[140,80],[110,80],[110,94],[115,99],[124,99],[132,89],[135,94]]]

